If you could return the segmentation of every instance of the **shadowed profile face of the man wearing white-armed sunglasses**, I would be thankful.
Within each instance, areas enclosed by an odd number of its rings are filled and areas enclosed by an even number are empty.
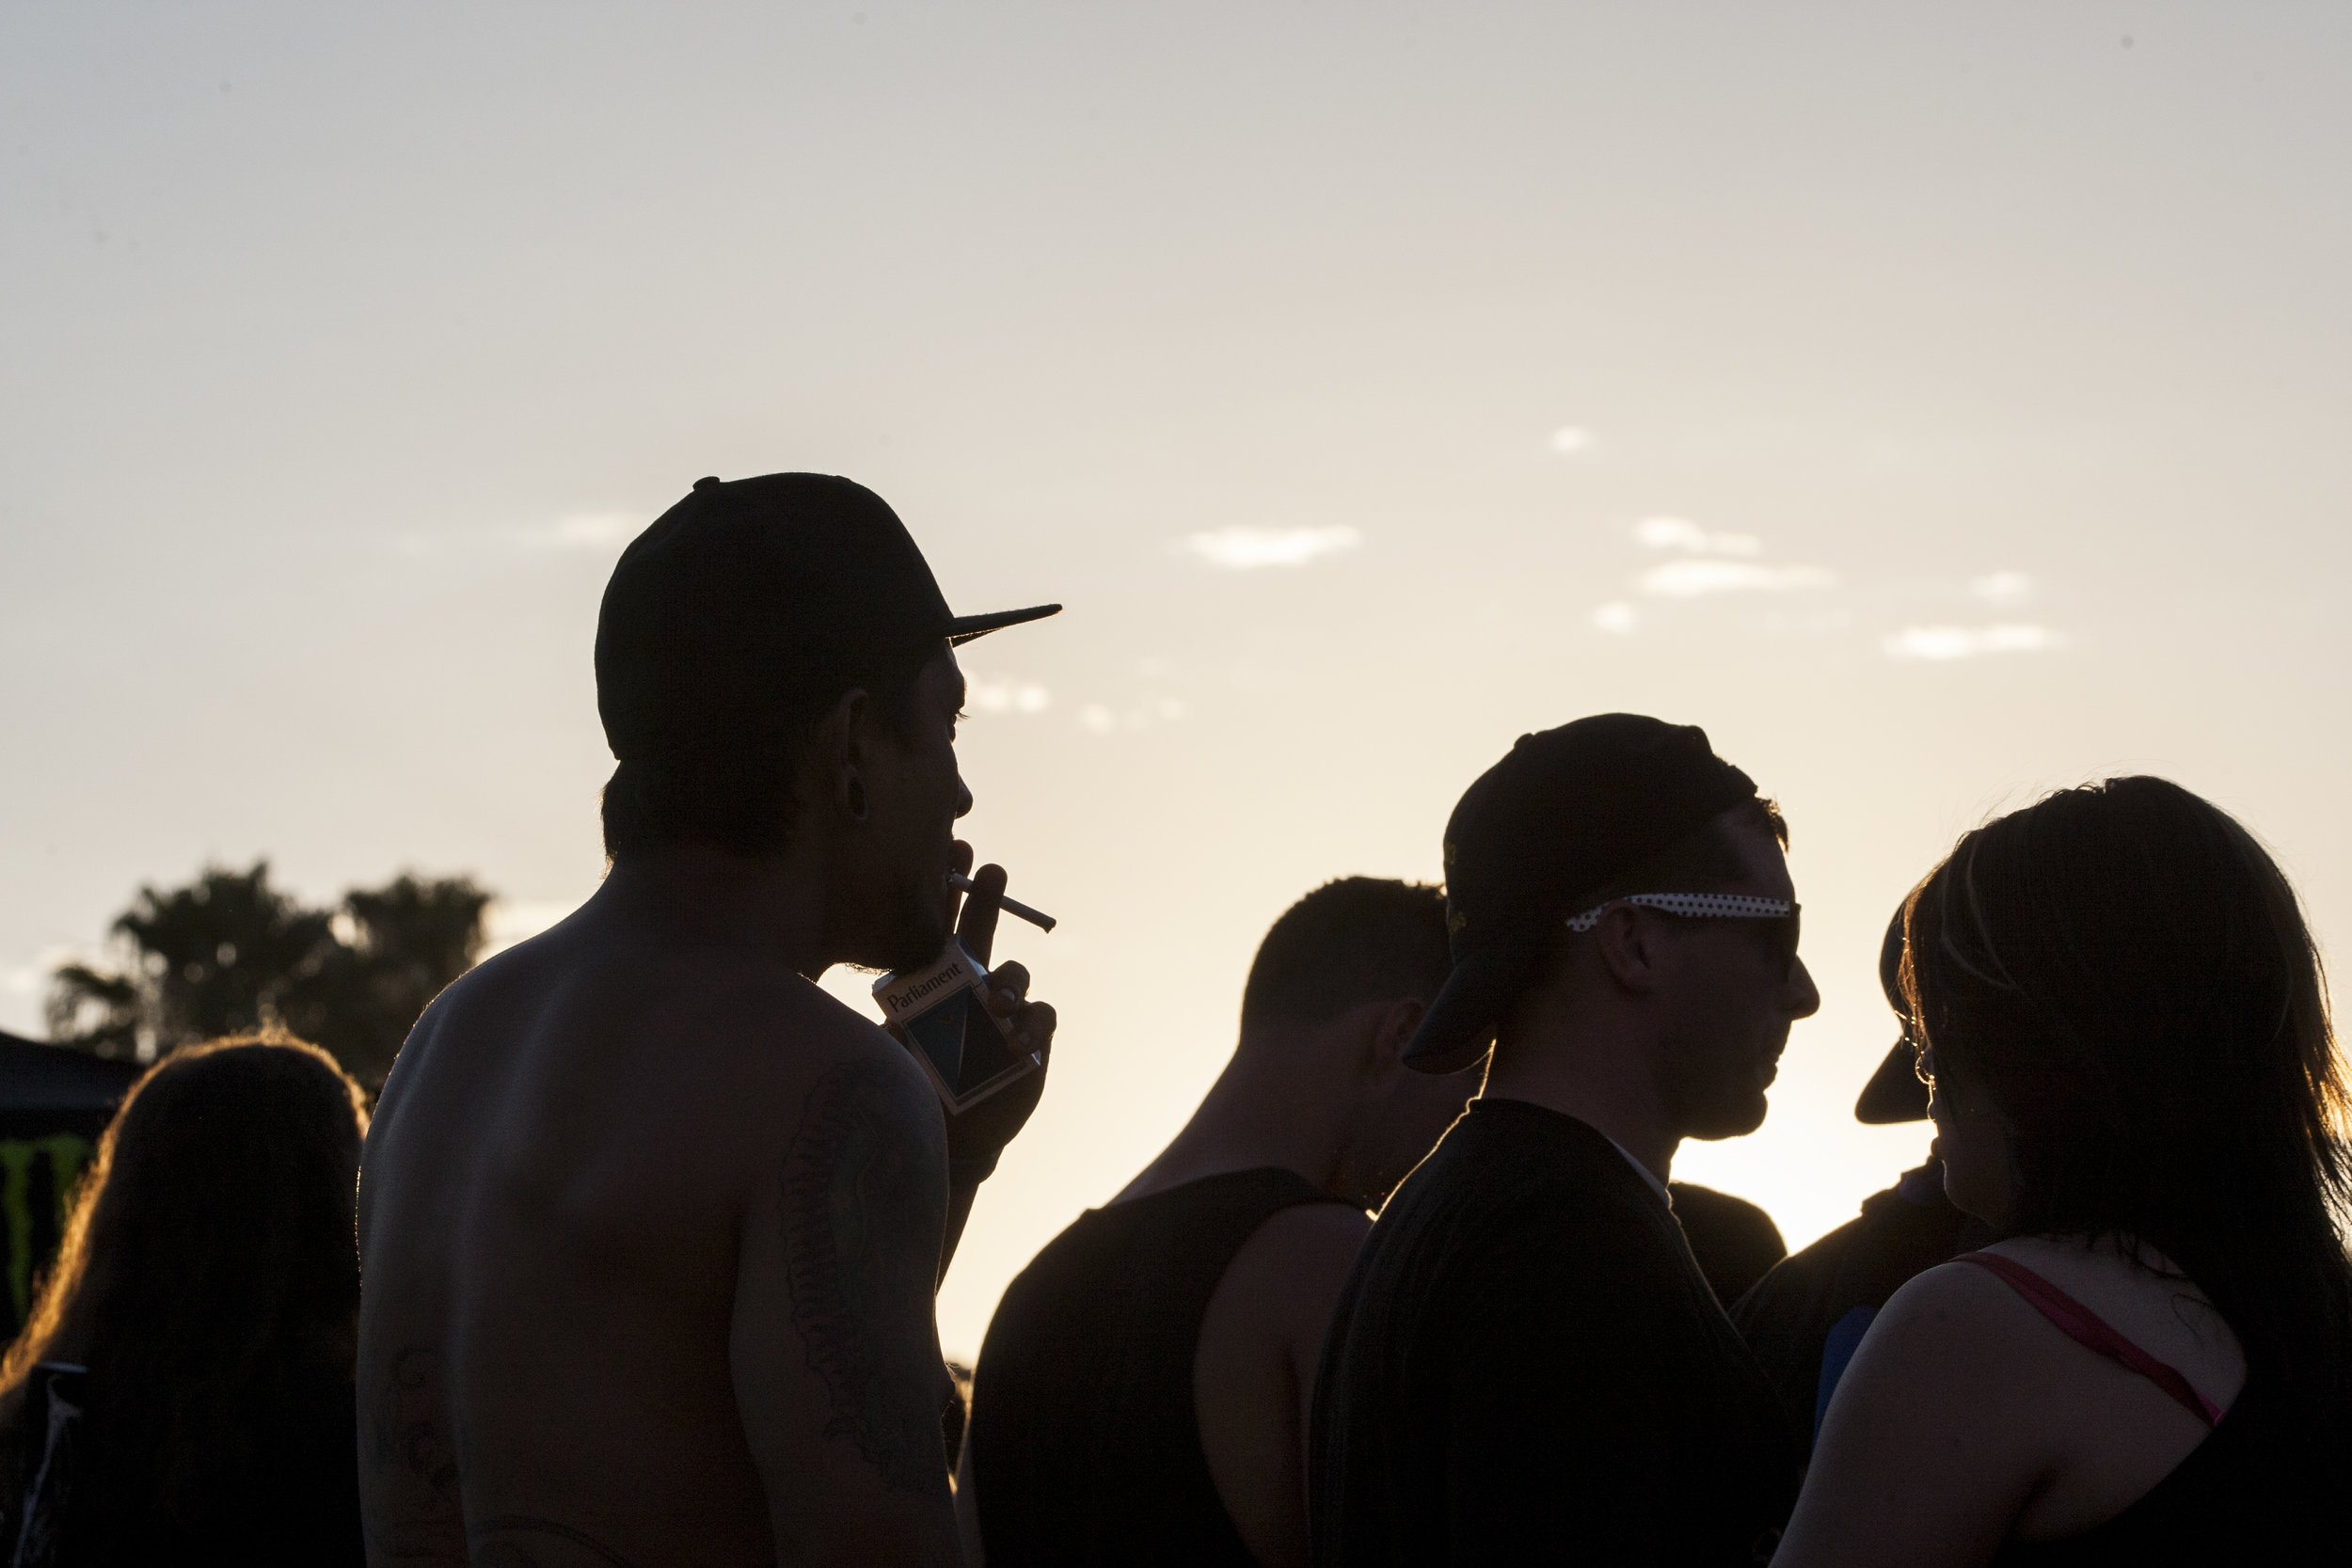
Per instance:
[[[1724,893],[1795,903],[1788,860],[1769,832],[1717,818],[1743,875]],[[1733,825],[1736,823],[1736,825]],[[1820,1006],[1804,959],[1788,964],[1773,922],[1661,917],[1672,980],[1661,992],[1668,1105],[1686,1138],[1740,1138],[1764,1126],[1764,1091],[1780,1072],[1788,1027]]]

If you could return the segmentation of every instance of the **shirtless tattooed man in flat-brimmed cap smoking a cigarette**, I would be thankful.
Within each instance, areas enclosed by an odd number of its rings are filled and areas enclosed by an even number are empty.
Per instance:
[[[953,616],[898,517],[703,480],[597,621],[612,872],[426,1011],[360,1178],[369,1561],[953,1563],[931,1293],[1042,1074],[943,1117],[811,980],[971,870]],[[1004,875],[971,877],[985,959]],[[1044,1053],[1016,964],[988,1009]]]

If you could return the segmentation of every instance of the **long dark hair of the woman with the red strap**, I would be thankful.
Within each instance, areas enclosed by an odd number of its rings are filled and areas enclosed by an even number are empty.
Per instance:
[[[1905,990],[2009,1126],[2011,1229],[2157,1246],[2249,1375],[2343,1439],[2352,1100],[2319,952],[2253,835],[2164,778],[2060,790],[1919,884]]]

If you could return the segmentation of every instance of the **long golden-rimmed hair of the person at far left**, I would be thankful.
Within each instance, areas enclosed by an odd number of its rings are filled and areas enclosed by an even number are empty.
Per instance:
[[[336,1380],[348,1389],[365,1131],[360,1086],[285,1037],[188,1046],[132,1086],[0,1361],[0,1432],[33,1446],[33,1366],[89,1368],[71,1526],[85,1542],[249,1495],[263,1455],[318,1427]],[[7,1460],[21,1476],[40,1455]]]

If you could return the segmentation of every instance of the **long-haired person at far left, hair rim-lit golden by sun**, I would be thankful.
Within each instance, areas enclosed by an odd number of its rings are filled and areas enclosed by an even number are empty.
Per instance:
[[[0,1552],[358,1563],[367,1112],[294,1039],[172,1053],[115,1112],[0,1361]]]

